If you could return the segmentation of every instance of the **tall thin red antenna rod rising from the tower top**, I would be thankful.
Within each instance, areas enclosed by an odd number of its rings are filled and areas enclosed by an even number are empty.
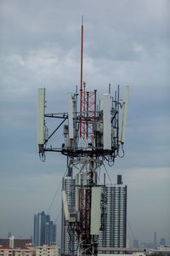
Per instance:
[[[82,15],[82,45],[81,45],[81,88],[80,88],[80,116],[82,117],[82,49],[83,49],[83,15]],[[82,119],[80,119],[80,137],[82,137]]]

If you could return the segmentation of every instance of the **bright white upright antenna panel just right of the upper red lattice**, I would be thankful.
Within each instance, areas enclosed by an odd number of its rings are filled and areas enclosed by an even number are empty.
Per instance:
[[[111,96],[103,95],[104,111],[104,149],[111,150]]]

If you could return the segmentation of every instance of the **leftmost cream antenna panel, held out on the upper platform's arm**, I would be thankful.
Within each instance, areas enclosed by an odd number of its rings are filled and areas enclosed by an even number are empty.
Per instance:
[[[37,97],[37,143],[44,143],[45,88],[38,89]]]

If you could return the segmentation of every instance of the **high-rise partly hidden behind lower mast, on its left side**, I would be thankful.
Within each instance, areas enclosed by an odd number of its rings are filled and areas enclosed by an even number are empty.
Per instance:
[[[71,167],[68,169],[67,175],[63,177],[62,189],[65,189],[68,208],[71,210],[71,206],[76,206],[76,179],[72,176]],[[62,205],[61,255],[74,254],[77,255],[77,240],[76,237],[71,237]]]

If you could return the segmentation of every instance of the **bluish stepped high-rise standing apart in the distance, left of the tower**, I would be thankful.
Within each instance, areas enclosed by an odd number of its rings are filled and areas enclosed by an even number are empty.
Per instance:
[[[56,242],[56,225],[50,221],[50,216],[45,212],[34,214],[34,236],[35,246]]]

